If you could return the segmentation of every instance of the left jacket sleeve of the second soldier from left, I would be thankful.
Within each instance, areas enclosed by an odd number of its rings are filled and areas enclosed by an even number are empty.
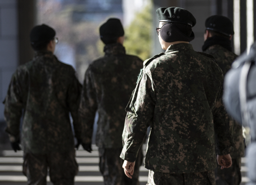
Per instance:
[[[82,123],[82,142],[92,143],[94,117],[98,108],[93,73],[90,67],[85,73],[79,105],[79,119]]]

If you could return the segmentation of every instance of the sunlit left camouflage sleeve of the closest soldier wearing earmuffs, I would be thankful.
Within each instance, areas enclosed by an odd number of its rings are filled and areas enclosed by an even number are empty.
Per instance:
[[[154,115],[156,94],[150,76],[150,71],[143,71],[126,107],[127,115],[122,134],[123,149],[120,157],[130,162],[136,160]]]

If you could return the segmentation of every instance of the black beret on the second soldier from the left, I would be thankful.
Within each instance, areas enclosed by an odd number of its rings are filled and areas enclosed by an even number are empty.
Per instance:
[[[124,36],[124,28],[117,18],[110,18],[100,26],[100,37],[120,37]]]

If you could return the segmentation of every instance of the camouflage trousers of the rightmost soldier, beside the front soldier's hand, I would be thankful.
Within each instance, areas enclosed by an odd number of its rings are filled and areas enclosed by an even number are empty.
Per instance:
[[[216,185],[239,185],[242,181],[241,158],[232,159],[232,166],[220,169],[220,165],[215,169]]]

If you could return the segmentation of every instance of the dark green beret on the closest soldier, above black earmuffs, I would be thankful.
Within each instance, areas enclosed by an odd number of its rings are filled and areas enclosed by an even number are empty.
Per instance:
[[[183,8],[178,7],[162,7],[156,10],[159,22],[178,22],[195,26],[196,18]]]

